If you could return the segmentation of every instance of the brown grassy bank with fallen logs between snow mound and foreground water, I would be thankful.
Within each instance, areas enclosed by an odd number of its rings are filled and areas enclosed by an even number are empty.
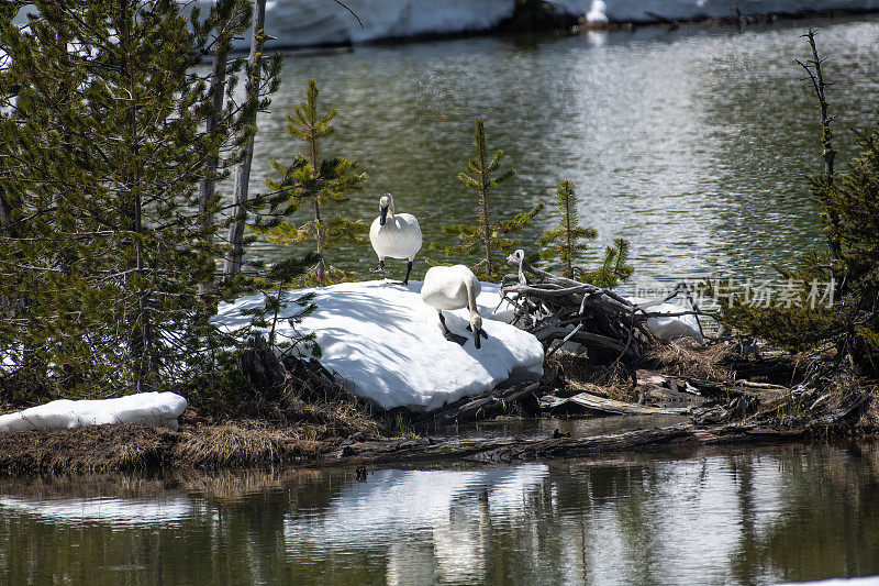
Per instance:
[[[879,385],[817,374],[830,363],[805,365],[780,355],[741,357],[730,349],[694,351],[677,344],[666,346],[657,356],[657,362],[663,360],[660,369],[638,371],[638,384],[632,387],[619,379],[597,384],[601,377],[594,368],[565,357],[547,364],[548,374],[539,383],[461,399],[431,416],[372,410],[363,403],[356,417],[341,417],[355,412],[348,397],[340,399],[345,405],[332,417],[326,405],[300,405],[299,414],[285,413],[276,405],[275,414],[262,419],[220,420],[188,409],[178,431],[125,424],[8,431],[0,433],[0,473],[327,466],[366,471],[430,462],[522,462],[668,446],[872,438],[879,430]],[[730,368],[747,378],[724,380]],[[785,379],[795,384],[777,384]],[[314,417],[318,412],[324,417]],[[468,436],[456,429],[497,418],[564,422],[620,413],[639,418],[632,429],[623,424],[585,434],[556,428],[543,436]],[[654,418],[657,423],[650,424]]]

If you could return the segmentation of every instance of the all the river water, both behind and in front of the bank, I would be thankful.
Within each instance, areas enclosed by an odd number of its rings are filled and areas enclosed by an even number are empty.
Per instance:
[[[308,78],[340,108],[325,154],[361,162],[344,212],[394,195],[425,241],[467,221],[456,179],[474,119],[519,175],[500,217],[577,183],[600,243],[637,275],[764,277],[820,245],[804,177],[821,168],[794,58],[819,36],[841,158],[879,101],[879,21],[480,37],[291,58],[256,148],[298,145],[283,114]],[[525,234],[525,247],[550,214]],[[426,254],[433,254],[426,251]],[[263,245],[259,255],[280,251]],[[342,251],[361,270],[371,251]],[[416,275],[423,264],[416,267]],[[365,273],[360,273],[365,275]],[[543,430],[547,432],[547,430]],[[504,431],[505,432],[505,431]],[[0,480],[0,583],[763,584],[879,574],[877,446],[736,447],[513,467]]]

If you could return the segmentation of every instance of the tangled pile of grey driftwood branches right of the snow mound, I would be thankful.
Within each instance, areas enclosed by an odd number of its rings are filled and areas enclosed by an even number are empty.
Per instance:
[[[685,284],[675,287],[665,299],[639,306],[610,289],[535,268],[525,261],[522,250],[511,254],[508,264],[518,269],[515,275],[501,280],[501,297],[515,307],[512,323],[537,336],[548,351],[547,357],[565,343],[576,342],[586,346],[592,363],[628,366],[634,382],[645,347],[656,341],[647,320],[701,313]],[[692,310],[679,313],[649,310],[681,292]]]

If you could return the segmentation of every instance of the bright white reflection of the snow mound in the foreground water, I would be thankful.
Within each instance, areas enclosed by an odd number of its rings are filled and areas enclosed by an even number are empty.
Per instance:
[[[344,554],[392,543],[388,582],[409,582],[412,561],[447,582],[486,579],[492,518],[519,518],[525,495],[547,475],[544,465],[486,471],[380,471],[355,484],[318,516],[286,523],[293,555]],[[307,553],[308,555],[308,553]]]

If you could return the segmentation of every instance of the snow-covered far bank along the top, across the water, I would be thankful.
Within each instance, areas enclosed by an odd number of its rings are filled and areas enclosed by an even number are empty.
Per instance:
[[[589,22],[656,22],[804,10],[876,10],[879,0],[548,0],[560,13],[590,14]],[[213,0],[201,0],[207,14]],[[347,0],[359,21],[326,0],[269,0],[266,30],[276,45],[364,43],[379,38],[453,34],[493,29],[513,15],[515,0]],[[360,26],[363,23],[363,26]],[[245,47],[247,41],[240,42]]]

